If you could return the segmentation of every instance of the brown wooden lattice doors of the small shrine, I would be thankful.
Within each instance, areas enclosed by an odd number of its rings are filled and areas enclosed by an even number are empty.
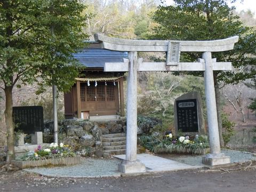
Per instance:
[[[107,85],[106,85],[107,84]],[[116,115],[119,111],[118,84],[113,82],[81,83],[81,111],[90,116]]]

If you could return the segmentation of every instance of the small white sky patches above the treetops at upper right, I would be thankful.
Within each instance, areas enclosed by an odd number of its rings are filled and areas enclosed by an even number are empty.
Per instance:
[[[172,0],[166,0],[167,5],[171,5],[172,3]],[[256,17],[256,0],[244,0],[243,3],[241,3],[241,0],[237,0],[236,3],[229,3],[229,5],[235,6],[238,12],[250,9],[252,12],[254,12],[254,17]]]

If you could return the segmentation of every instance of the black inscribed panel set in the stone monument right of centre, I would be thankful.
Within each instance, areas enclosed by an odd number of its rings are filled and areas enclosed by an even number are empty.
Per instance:
[[[196,99],[176,102],[178,130],[182,132],[198,132]]]

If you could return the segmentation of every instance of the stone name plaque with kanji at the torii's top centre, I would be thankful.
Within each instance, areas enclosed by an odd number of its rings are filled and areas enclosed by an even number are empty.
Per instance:
[[[178,65],[180,61],[180,43],[169,42],[166,65]]]

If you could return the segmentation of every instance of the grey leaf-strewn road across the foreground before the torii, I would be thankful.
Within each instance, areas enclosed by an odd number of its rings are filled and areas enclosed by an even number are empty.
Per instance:
[[[236,169],[190,170],[97,179],[49,178],[23,171],[2,172],[0,191],[255,192],[255,167],[244,170],[236,167]]]

